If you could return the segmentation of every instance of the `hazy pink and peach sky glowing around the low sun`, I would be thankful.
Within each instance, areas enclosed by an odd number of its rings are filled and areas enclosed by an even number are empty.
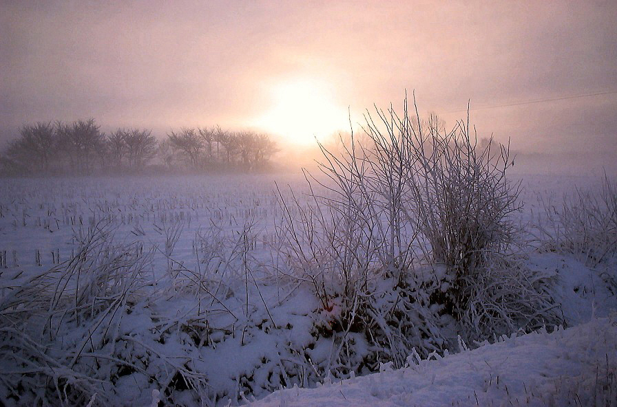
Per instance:
[[[5,140],[92,117],[302,141],[415,89],[448,124],[493,107],[471,122],[523,153],[617,160],[617,94],[546,101],[617,91],[617,1],[4,1],[0,72]]]

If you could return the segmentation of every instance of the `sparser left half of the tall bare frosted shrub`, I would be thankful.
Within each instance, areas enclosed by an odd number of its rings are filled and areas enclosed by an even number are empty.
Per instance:
[[[367,140],[352,134],[347,144],[341,140],[340,154],[320,145],[322,177],[306,174],[308,204],[278,191],[280,269],[310,283],[317,314],[328,316],[315,325],[317,336],[333,340],[328,361],[316,366],[320,375],[374,371],[380,362],[403,366],[413,347],[445,349],[438,309],[428,307],[410,273],[417,235],[417,220],[406,212],[410,151],[393,139]]]

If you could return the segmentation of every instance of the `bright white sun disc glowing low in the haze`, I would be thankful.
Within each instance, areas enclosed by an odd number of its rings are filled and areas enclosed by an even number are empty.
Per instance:
[[[260,129],[296,144],[310,144],[346,129],[348,113],[335,103],[333,87],[323,80],[291,78],[268,89],[271,102],[255,120]]]

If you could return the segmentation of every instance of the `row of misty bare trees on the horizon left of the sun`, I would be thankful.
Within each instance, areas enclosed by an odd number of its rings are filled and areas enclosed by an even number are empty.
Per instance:
[[[2,175],[262,170],[278,151],[264,133],[182,128],[157,140],[148,129],[105,134],[94,119],[25,124],[0,152]]]

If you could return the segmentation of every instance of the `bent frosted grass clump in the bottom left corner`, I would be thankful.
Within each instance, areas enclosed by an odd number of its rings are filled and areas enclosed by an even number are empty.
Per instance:
[[[0,298],[3,399],[8,404],[109,402],[114,375],[132,369],[117,353],[123,316],[145,288],[151,253],[112,242],[95,225],[68,261],[15,279]],[[105,391],[105,384],[108,384]]]

